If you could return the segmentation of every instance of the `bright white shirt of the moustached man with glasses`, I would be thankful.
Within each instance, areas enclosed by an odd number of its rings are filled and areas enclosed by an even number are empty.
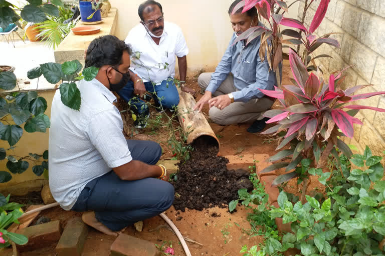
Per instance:
[[[154,42],[142,24],[137,24],[128,33],[126,43],[131,44],[135,55],[140,52],[140,58],[131,58],[131,70],[143,81],[153,81],[160,84],[167,77],[175,75],[175,55],[183,57],[188,54],[188,48],[182,30],[174,23],[164,21],[164,31],[159,45]],[[165,63],[168,66],[165,68]]]

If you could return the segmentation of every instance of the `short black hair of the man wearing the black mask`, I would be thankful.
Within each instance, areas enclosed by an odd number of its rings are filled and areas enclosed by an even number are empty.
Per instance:
[[[111,65],[117,67],[122,63],[123,51],[132,54],[129,44],[115,35],[104,35],[91,41],[87,48],[85,67],[102,67]]]

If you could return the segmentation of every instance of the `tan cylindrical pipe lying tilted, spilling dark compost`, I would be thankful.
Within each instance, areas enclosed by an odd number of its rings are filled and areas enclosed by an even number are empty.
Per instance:
[[[209,122],[206,120],[206,117],[202,111],[193,111],[194,106],[197,104],[193,95],[181,91],[180,88],[177,89],[179,92],[179,104],[177,108],[179,123],[184,132],[190,132],[187,136],[187,143],[193,142],[198,137],[205,136],[206,139],[218,145],[219,150],[219,140]]]

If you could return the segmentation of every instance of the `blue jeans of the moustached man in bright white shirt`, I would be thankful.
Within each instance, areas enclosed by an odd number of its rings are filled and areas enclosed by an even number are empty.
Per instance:
[[[173,108],[179,103],[179,94],[174,84],[173,78],[168,77],[163,80],[159,85],[153,85],[152,82],[145,82],[144,86],[149,93],[150,97],[155,100],[155,106],[162,105],[165,108]],[[130,80],[120,91],[119,96],[128,102],[131,106],[131,110],[138,114],[148,112],[148,106],[145,101],[134,95],[134,84]]]

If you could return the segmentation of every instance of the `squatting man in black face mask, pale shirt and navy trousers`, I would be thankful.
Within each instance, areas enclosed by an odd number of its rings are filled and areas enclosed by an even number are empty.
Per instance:
[[[65,106],[57,90],[52,101],[49,137],[49,184],[66,210],[86,211],[82,219],[103,233],[117,235],[133,223],[168,209],[173,186],[166,175],[160,145],[126,140],[114,106],[118,91],[132,77],[132,50],[116,36],[94,39],[85,67],[99,68],[91,81],[81,80],[80,110]]]

